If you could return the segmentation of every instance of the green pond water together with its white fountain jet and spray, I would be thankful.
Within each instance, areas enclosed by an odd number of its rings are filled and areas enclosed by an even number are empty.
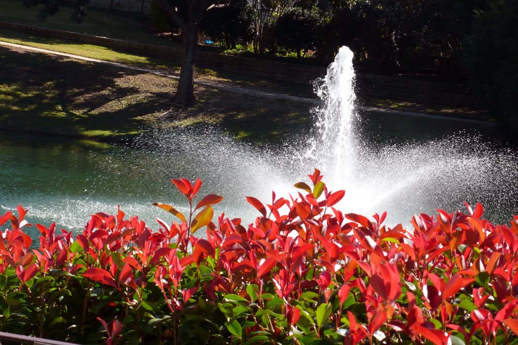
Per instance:
[[[13,145],[0,138],[0,213],[21,203],[30,208],[32,222],[81,229],[90,214],[115,213],[120,204],[127,215],[138,214],[155,227],[155,217],[170,221],[172,216],[153,202],[188,212],[170,179],[199,177],[204,182],[200,195],[224,196],[216,214],[225,212],[248,224],[258,212],[245,196],[264,203],[271,203],[272,191],[295,196],[293,184],[309,183],[307,175],[315,167],[329,190],[346,190],[338,205],[343,212],[370,217],[386,210],[392,225],[407,223],[416,213],[435,214],[437,208],[464,209],[465,201],[481,202],[484,217],[496,222],[507,223],[518,212],[518,156],[505,145],[469,132],[425,141],[373,140],[391,133],[384,133],[388,126],[379,133],[366,130],[367,114],[355,103],[352,60],[352,52],[342,47],[316,87],[322,102],[313,110],[312,130],[283,145],[257,148],[209,124],[157,124],[132,143],[115,147]],[[416,128],[427,130],[425,121]]]

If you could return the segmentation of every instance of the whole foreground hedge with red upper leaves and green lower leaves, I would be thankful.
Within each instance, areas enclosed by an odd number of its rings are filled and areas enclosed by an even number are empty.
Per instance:
[[[172,182],[177,221],[92,215],[80,234],[37,224],[26,210],[0,226],[0,329],[81,343],[518,343],[518,217],[339,211],[318,170],[296,196],[272,193],[245,226],[213,217],[221,196]],[[6,225],[4,225],[6,226]],[[199,236],[205,231],[204,236]]]

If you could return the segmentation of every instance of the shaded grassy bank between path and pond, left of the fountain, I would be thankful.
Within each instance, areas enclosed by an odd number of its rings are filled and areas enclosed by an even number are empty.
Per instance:
[[[177,82],[61,56],[0,47],[0,129],[129,139],[150,126],[219,123],[256,145],[309,127],[307,104],[197,87],[199,105],[170,109]]]

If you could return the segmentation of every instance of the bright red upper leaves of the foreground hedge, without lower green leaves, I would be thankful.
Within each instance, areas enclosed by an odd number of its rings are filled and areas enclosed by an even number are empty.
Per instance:
[[[489,339],[499,330],[506,337],[509,329],[518,331],[518,217],[510,226],[494,225],[481,219],[482,206],[477,204],[474,211],[468,206],[468,214],[438,210],[437,218],[415,215],[409,231],[401,225],[390,228],[383,225],[386,212],[371,221],[333,208],[344,191],[329,192],[319,170],[309,178],[313,189],[297,183],[302,191],[297,198],[276,198],[274,193],[265,206],[247,197],[260,212],[248,227],[223,215],[213,221],[211,205],[222,197],[208,195],[193,208],[202,182],[174,179],[190,202],[188,217],[172,206],[154,204],[181,222],[168,225],[157,219],[160,228],[153,232],[136,217],[124,220],[120,210],[117,217],[94,214],[76,236],[86,267],[69,264],[79,250],[71,249],[71,233],[55,235],[55,225],[37,225],[40,247],[33,255],[31,238],[21,229],[28,225],[25,210],[19,207],[18,218],[11,212],[0,217],[0,225],[12,223],[0,241],[0,271],[15,267],[22,284],[49,269],[80,272],[117,290],[128,305],[138,304],[134,295],[154,281],[171,313],[201,295],[207,300],[228,294],[254,303],[257,299],[266,308],[262,298],[272,297],[262,296],[271,292],[282,300],[287,329],[303,327],[301,320],[315,315],[317,337],[325,336],[322,326],[329,323],[337,332],[346,327],[342,342],[351,344],[380,334],[444,344],[453,334],[469,342],[477,334]],[[283,207],[289,209],[286,214]],[[201,228],[206,229],[204,238],[191,235]],[[186,269],[202,266],[209,267],[203,281],[185,278]],[[252,292],[249,286],[257,289]],[[320,301],[308,301],[305,292],[318,292]],[[364,314],[356,318],[353,304],[362,305]],[[302,306],[316,309],[316,314]],[[227,322],[233,335],[255,332],[243,323],[241,333],[236,320]],[[268,320],[262,329],[270,327],[270,335],[279,337],[281,321]],[[109,341],[117,342],[122,324],[100,321]]]

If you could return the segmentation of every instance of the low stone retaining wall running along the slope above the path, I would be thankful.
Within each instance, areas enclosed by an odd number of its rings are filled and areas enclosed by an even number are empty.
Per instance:
[[[180,64],[182,56],[182,49],[180,48],[67,32],[40,26],[0,22],[0,28],[160,57],[164,60],[174,61],[177,64]],[[198,52],[197,65],[216,71],[299,84],[308,84],[316,78],[324,76],[326,70],[323,66],[256,59],[206,51]],[[473,97],[467,93],[465,85],[362,73],[357,76],[357,85],[361,93],[378,98],[401,99],[409,102],[430,104],[438,103],[451,106],[475,104]]]

